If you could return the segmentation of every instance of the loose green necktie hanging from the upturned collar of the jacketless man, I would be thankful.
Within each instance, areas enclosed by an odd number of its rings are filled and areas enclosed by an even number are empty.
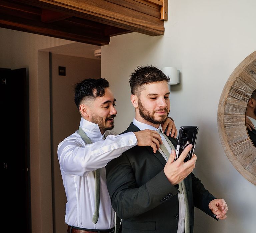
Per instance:
[[[90,138],[85,134],[84,130],[79,126],[78,134],[82,137],[86,144],[91,144]],[[99,219],[99,211],[100,211],[100,171],[96,169],[94,171],[94,179],[95,179],[95,210],[92,216],[92,222],[96,224]]]

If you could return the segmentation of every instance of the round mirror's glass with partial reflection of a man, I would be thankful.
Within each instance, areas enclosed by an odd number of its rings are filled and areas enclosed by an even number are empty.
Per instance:
[[[245,124],[248,135],[254,146],[256,146],[256,89],[253,91],[251,98],[248,101],[245,115]]]

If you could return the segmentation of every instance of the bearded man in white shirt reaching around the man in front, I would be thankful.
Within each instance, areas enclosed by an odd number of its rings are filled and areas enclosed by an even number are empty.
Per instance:
[[[153,130],[109,135],[107,130],[114,128],[117,114],[115,102],[105,79],[86,79],[76,85],[80,127],[58,146],[69,233],[112,232],[114,211],[106,187],[105,165],[135,145],[148,145],[156,152],[162,143]],[[174,128],[170,123],[168,132]]]

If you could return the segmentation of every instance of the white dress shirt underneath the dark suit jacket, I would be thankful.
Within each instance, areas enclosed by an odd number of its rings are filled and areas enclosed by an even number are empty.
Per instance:
[[[158,128],[155,128],[152,125],[142,123],[142,122],[136,120],[135,118],[133,119],[133,124],[136,125],[140,130],[151,129],[151,130],[157,131],[158,133],[161,131],[161,133],[159,133],[159,134],[161,136],[163,144],[165,145],[166,149],[171,153],[172,149],[163,135],[163,130],[162,130],[161,124],[159,125]],[[160,148],[158,150],[163,155],[164,159],[167,161],[168,159],[165,156],[165,154],[163,153],[163,151]],[[177,233],[184,233],[184,231],[185,231],[185,216],[186,216],[185,211],[186,210],[185,210],[184,193],[182,190],[181,190],[181,192],[178,193],[178,198],[179,198],[179,221],[178,221]]]

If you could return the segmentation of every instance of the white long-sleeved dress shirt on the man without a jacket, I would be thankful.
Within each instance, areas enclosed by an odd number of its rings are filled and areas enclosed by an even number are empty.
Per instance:
[[[58,146],[58,159],[67,196],[65,222],[70,226],[87,229],[114,227],[115,212],[111,207],[106,186],[106,164],[137,144],[133,132],[108,135],[105,140],[98,124],[81,118],[80,127],[90,138],[86,144],[77,131],[65,138]],[[106,132],[106,134],[109,131]],[[94,170],[100,171],[100,210],[94,225],[95,210]]]

